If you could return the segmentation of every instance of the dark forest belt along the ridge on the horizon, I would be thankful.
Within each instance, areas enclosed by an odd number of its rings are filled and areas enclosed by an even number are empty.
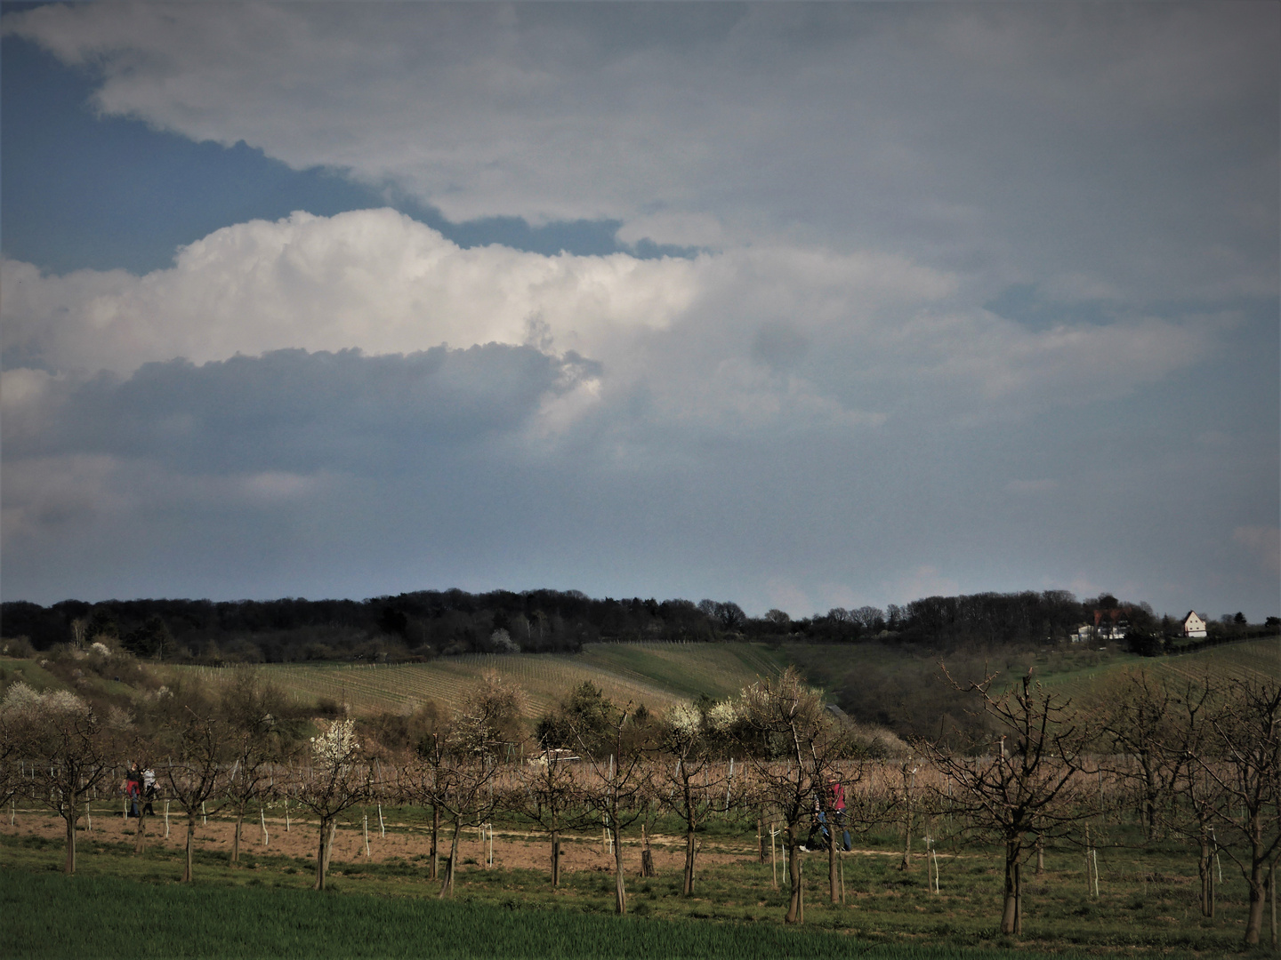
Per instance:
[[[1180,612],[1182,613],[1182,612]],[[1226,622],[1222,622],[1226,620]],[[1261,636],[1241,614],[1211,623],[1208,641]],[[734,602],[593,599],[578,590],[423,590],[365,600],[63,600],[50,607],[0,604],[0,636],[35,650],[55,644],[119,641],[129,652],[175,662],[406,662],[459,653],[575,652],[598,641],[877,640],[953,652],[1065,641],[1082,623],[1126,628],[1136,653],[1181,641],[1179,621],[1146,603],[1111,594],[1077,599],[1066,590],[929,596],[885,609],[840,607],[792,620],[778,609],[749,617]]]

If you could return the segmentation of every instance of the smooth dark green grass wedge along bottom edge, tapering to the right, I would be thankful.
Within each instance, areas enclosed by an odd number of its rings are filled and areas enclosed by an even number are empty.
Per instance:
[[[883,945],[775,924],[615,918],[418,897],[140,883],[0,872],[0,955],[19,957],[796,957],[1047,956]],[[1056,954],[1056,956],[1063,956]]]

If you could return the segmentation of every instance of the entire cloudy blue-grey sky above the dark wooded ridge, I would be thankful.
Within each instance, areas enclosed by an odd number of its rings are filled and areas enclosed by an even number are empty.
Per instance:
[[[0,6],[0,595],[1281,612],[1281,6]]]

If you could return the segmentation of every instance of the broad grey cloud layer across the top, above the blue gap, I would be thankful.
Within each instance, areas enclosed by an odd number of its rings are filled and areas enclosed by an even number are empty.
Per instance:
[[[453,218],[875,244],[991,296],[1269,294],[1269,4],[83,5],[101,109]],[[277,82],[281,74],[288,86]]]

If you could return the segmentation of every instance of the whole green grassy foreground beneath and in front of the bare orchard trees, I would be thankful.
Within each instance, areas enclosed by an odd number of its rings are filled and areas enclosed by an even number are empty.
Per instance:
[[[397,831],[414,828],[387,810]],[[420,812],[418,812],[420,813]],[[656,824],[661,826],[661,824]],[[787,879],[752,855],[755,831],[725,823],[716,849],[739,859],[698,870],[696,896],[680,895],[679,870],[642,878],[628,846],[629,911],[612,915],[607,870],[565,874],[552,890],[543,869],[484,869],[464,846],[453,902],[436,899],[423,858],[334,860],[330,890],[309,890],[307,858],[249,851],[237,867],[201,850],[197,882],[183,887],[181,852],[158,844],[135,855],[127,837],[82,842],[76,877],[58,873],[60,842],[0,837],[0,956],[421,956],[421,957],[1218,957],[1244,951],[1245,884],[1225,863],[1217,918],[1196,908],[1195,851],[1136,849],[1126,827],[1099,851],[1100,895],[1088,892],[1084,856],[1050,845],[1047,872],[1029,877],[1024,934],[997,933],[997,850],[945,847],[942,890],[931,892],[924,856],[898,869],[893,832],[865,838],[843,858],[845,902],[826,896],[826,858],[804,856],[806,923],[781,923]],[[355,832],[350,819],[345,829]],[[315,827],[296,822],[295,829]],[[519,824],[500,826],[521,844]],[[391,832],[388,833],[391,837]],[[395,845],[395,841],[387,841]],[[600,840],[592,841],[598,844]],[[780,864],[781,865],[781,864]],[[1267,929],[1264,929],[1264,940]]]

